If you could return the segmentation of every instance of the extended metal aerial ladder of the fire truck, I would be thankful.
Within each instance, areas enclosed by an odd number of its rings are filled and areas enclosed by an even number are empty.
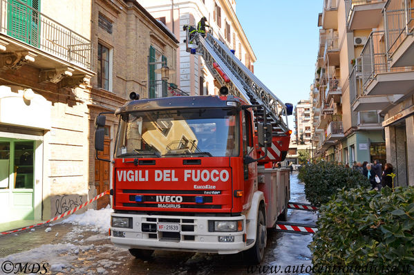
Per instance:
[[[211,33],[206,33],[206,37],[203,38],[197,32],[190,35],[187,29],[186,44],[187,52],[203,57],[205,65],[220,86],[226,86],[230,94],[241,97],[247,104],[261,105],[254,111],[255,122],[264,122],[265,113],[266,121],[272,124],[273,129],[272,148],[267,152],[268,158],[265,160],[284,160],[292,133],[288,127],[288,115],[292,114],[292,104],[283,104],[222,41],[213,37]],[[285,117],[285,121],[282,117]]]

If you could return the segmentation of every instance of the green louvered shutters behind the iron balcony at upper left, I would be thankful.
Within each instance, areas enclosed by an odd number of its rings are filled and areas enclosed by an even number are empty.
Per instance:
[[[40,0],[8,1],[8,35],[39,48]]]

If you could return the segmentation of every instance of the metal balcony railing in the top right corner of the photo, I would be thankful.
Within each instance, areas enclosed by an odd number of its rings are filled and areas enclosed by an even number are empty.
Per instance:
[[[407,35],[414,31],[414,2],[390,0],[385,7],[387,52],[392,55]]]

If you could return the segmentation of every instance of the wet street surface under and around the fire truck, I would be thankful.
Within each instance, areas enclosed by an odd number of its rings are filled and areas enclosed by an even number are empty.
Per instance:
[[[296,177],[291,178],[291,200],[305,201],[303,184],[298,183]],[[316,219],[316,215],[309,212],[290,210],[289,215],[289,220],[295,222],[314,222]],[[140,260],[127,250],[114,247],[108,236],[97,233],[92,227],[61,224],[51,228],[50,232],[45,232],[46,227],[37,227],[35,231],[0,236],[0,264],[5,260],[13,263],[40,261],[37,250],[45,249],[41,245],[69,244],[73,246],[71,249],[57,249],[43,255],[41,262],[49,265],[46,274],[249,274],[248,259],[243,258],[243,254],[156,251],[149,260]],[[306,245],[311,238],[269,230],[262,265],[310,265]],[[52,265],[55,266],[51,268]]]

